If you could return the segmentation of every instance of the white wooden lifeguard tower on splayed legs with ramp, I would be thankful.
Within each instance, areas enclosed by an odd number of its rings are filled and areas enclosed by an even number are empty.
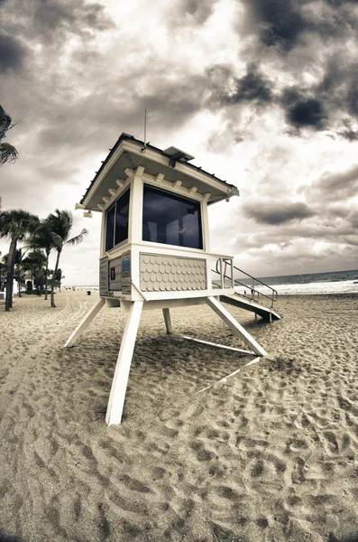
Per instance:
[[[64,346],[77,341],[104,304],[128,313],[107,406],[108,425],[121,423],[142,310],[162,309],[171,333],[170,308],[208,304],[240,335],[249,353],[258,356],[265,350],[219,299],[261,311],[270,320],[279,317],[252,298],[235,299],[233,257],[210,252],[207,206],[229,201],[239,191],[189,164],[192,159],[176,147],[162,151],[122,134],[77,204],[85,216],[102,212],[100,299]]]

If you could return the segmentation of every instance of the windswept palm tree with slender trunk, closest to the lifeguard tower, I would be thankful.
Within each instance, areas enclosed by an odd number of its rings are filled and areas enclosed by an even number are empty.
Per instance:
[[[82,229],[78,236],[69,238],[69,233],[73,226],[73,217],[69,210],[55,210],[54,214],[51,213],[48,216],[46,222],[48,223],[50,231],[52,232],[53,246],[57,250],[56,264],[53,270],[53,278],[51,280],[51,307],[55,307],[56,305],[53,291],[59,269],[62,249],[65,245],[78,245],[78,243],[83,241],[83,238],[88,232],[87,229]]]

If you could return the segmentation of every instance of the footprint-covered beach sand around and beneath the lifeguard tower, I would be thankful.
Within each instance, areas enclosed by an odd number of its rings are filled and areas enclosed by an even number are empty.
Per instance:
[[[358,539],[357,296],[281,297],[271,324],[230,306],[269,352],[247,367],[180,339],[242,346],[209,307],[173,310],[171,336],[143,313],[107,427],[125,315],[62,349],[97,295],[0,302],[0,540]]]

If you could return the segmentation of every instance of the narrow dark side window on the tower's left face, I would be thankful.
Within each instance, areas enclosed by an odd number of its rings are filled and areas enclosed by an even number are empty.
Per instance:
[[[106,251],[128,238],[129,190],[106,212]]]

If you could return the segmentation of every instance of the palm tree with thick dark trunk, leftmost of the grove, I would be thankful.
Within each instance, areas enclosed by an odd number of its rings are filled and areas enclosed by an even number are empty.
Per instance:
[[[30,212],[21,209],[0,212],[0,238],[11,238],[6,266],[5,311],[13,307],[14,265],[16,245],[23,241],[39,224],[39,219]]]

